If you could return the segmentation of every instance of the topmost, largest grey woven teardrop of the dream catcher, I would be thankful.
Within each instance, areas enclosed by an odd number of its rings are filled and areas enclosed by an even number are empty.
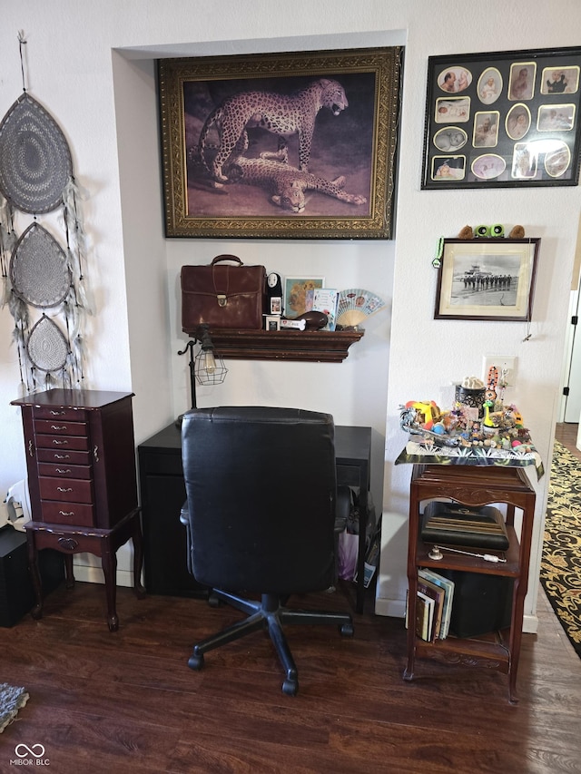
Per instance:
[[[52,116],[22,94],[0,123],[0,190],[23,212],[50,212],[63,203],[73,175],[68,143]]]

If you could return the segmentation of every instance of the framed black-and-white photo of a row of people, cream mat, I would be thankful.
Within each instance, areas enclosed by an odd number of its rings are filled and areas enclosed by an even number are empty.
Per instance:
[[[540,241],[444,240],[434,319],[530,320]]]

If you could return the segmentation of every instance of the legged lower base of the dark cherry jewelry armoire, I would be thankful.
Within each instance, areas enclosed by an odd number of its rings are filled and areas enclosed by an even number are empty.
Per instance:
[[[33,617],[39,619],[43,615],[43,590],[38,569],[38,552],[43,548],[54,548],[64,554],[67,588],[74,586],[73,554],[87,552],[101,557],[107,595],[107,623],[109,630],[116,632],[119,628],[119,617],[116,611],[116,552],[130,538],[133,540],[133,587],[139,598],[143,597],[145,593],[141,583],[143,537],[139,508],[135,508],[130,514],[127,514],[112,529],[45,524],[35,521],[25,524],[25,528],[28,561],[36,595]]]

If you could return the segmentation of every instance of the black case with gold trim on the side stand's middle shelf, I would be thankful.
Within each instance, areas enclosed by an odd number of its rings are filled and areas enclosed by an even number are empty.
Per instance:
[[[497,508],[470,508],[459,503],[428,503],[421,525],[424,543],[466,545],[506,551],[507,526]]]

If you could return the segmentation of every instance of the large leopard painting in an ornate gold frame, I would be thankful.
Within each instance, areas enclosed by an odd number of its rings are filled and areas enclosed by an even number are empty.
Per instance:
[[[401,54],[160,60],[166,236],[390,239]]]

